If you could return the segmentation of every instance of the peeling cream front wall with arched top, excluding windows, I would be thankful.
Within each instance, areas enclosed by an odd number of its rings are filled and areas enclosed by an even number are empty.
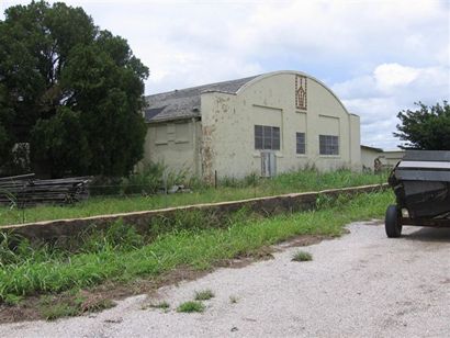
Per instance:
[[[237,94],[203,93],[203,174],[241,178],[261,172],[261,151],[255,149],[255,125],[280,127],[277,173],[314,166],[319,170],[361,169],[359,117],[317,80],[307,77],[306,109],[299,109],[292,71],[258,77]],[[295,133],[305,133],[306,154],[296,154]],[[320,155],[318,135],[339,136],[339,155]]]

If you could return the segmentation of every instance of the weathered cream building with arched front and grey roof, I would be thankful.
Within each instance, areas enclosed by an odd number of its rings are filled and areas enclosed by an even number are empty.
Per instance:
[[[274,71],[146,98],[145,160],[212,180],[360,170],[359,116],[319,80]]]

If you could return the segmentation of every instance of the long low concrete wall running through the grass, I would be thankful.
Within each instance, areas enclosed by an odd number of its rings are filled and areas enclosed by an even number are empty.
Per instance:
[[[290,193],[284,195],[249,199],[241,201],[195,204],[153,211],[26,223],[0,227],[0,233],[14,233],[25,238],[29,238],[32,241],[47,241],[76,237],[77,235],[86,232],[91,226],[95,226],[99,229],[106,228],[108,226],[110,226],[111,223],[121,218],[125,224],[131,224],[135,226],[135,228],[139,233],[146,233],[148,232],[148,225],[153,217],[170,217],[171,215],[180,211],[206,211],[218,214],[226,214],[229,212],[238,211],[243,207],[248,207],[249,210],[258,213],[279,214],[282,212],[294,212],[314,209],[316,206],[317,198],[320,195],[353,195],[358,193],[368,193],[385,190],[387,187],[387,184],[372,184],[344,189],[330,189],[318,192]]]

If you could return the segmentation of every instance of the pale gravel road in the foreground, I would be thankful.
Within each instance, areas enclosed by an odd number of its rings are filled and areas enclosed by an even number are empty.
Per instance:
[[[274,259],[220,269],[162,288],[157,298],[126,298],[116,307],[54,323],[0,326],[0,337],[450,337],[450,228],[405,227],[387,239],[378,223],[302,250],[286,244]],[[211,289],[203,314],[173,308]],[[230,297],[237,300],[230,302]],[[143,309],[167,301],[171,309]]]

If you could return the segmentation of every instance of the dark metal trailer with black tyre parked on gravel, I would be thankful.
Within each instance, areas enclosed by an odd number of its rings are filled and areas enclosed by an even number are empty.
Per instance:
[[[407,150],[387,182],[396,196],[386,210],[387,237],[400,237],[403,225],[450,226],[450,151]]]

